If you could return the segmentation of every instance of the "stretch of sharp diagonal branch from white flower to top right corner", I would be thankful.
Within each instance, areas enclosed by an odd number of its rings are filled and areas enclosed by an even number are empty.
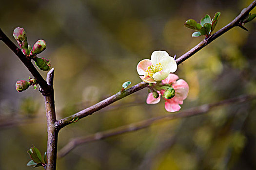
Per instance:
[[[242,10],[241,13],[233,21],[231,21],[228,25],[221,28],[215,34],[209,36],[208,38],[205,38],[199,44],[197,44],[197,46],[195,46],[193,49],[191,49],[190,51],[186,52],[185,54],[183,54],[182,56],[177,58],[177,60],[176,60],[177,64],[182,63],[183,61],[185,61],[186,59],[188,59],[189,57],[194,55],[197,51],[201,50],[203,47],[205,47],[206,45],[211,43],[213,40],[215,40],[220,35],[226,33],[227,31],[229,31],[230,29],[232,29],[236,26],[239,26],[240,21],[242,19],[244,19],[245,17],[247,17],[248,14],[250,13],[250,11],[252,11],[255,6],[256,6],[256,0],[254,0],[247,8]]]

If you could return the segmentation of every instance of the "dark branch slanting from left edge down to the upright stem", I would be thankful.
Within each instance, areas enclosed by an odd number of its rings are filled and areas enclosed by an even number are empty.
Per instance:
[[[26,68],[31,72],[31,74],[34,76],[35,79],[37,79],[38,84],[42,88],[42,90],[45,93],[49,93],[51,88],[49,85],[47,85],[46,81],[43,79],[41,74],[38,72],[38,70],[34,67],[34,65],[31,63],[31,60],[29,60],[18,48],[0,29],[0,40],[2,40],[21,60],[21,62],[26,66]]]

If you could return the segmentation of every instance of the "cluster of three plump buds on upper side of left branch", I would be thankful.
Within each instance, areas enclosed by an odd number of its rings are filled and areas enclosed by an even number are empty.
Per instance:
[[[24,55],[35,61],[36,66],[43,71],[48,71],[51,68],[50,61],[45,58],[39,58],[36,55],[46,49],[46,43],[44,40],[39,39],[33,46],[28,45],[27,36],[23,28],[17,27],[13,31],[13,36],[17,40],[18,44]]]

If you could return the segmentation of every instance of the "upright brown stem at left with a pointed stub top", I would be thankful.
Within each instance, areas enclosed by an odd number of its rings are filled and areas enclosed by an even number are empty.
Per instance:
[[[59,129],[55,127],[56,113],[53,91],[54,68],[47,73],[47,84],[51,87],[51,93],[44,96],[47,118],[47,165],[46,170],[56,170],[57,144]]]

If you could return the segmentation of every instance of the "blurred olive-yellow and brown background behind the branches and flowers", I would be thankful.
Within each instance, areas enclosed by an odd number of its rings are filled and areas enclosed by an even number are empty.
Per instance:
[[[180,56],[203,40],[191,37],[187,19],[217,11],[215,31],[253,0],[4,0],[0,28],[23,27],[28,43],[44,39],[55,68],[57,117],[76,113],[118,92],[125,81],[141,82],[138,62],[156,50]],[[256,9],[252,11],[256,13]],[[190,86],[182,109],[256,94],[256,21],[234,28],[178,66]],[[16,42],[15,42],[16,43]],[[44,100],[15,83],[31,74],[0,42],[0,170],[30,170],[26,151],[47,144]],[[39,71],[44,77],[46,72]],[[59,133],[70,139],[168,115],[164,101],[148,105],[148,90],[130,95]],[[158,123],[133,133],[78,146],[59,158],[58,170],[256,170],[256,101],[221,106],[205,115]],[[42,168],[38,168],[42,169]]]

